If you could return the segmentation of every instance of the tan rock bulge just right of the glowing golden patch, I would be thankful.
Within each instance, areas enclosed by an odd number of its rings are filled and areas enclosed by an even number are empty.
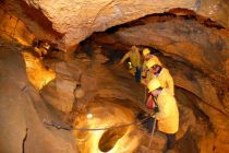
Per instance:
[[[69,72],[64,62],[55,63],[57,78],[41,90],[43,97],[58,110],[70,113],[75,97],[73,91],[76,79]]]

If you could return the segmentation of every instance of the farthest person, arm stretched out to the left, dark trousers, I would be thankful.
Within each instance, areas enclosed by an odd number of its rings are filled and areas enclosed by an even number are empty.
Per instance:
[[[140,55],[140,50],[136,46],[131,47],[131,50],[128,51],[123,56],[120,63],[123,63],[128,58],[130,58],[131,64],[134,69],[135,80],[136,80],[136,82],[140,82],[141,81],[141,55]]]

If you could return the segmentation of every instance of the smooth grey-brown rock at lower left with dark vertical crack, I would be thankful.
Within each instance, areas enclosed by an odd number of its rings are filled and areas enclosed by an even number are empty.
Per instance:
[[[70,132],[43,123],[56,117],[28,82],[19,44],[1,37],[0,46],[0,152],[77,152]]]

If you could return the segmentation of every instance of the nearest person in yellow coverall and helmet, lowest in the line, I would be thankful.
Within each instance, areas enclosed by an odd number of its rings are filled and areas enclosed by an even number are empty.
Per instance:
[[[156,99],[158,111],[153,116],[157,120],[158,130],[167,136],[167,149],[172,149],[176,132],[179,129],[179,111],[177,102],[168,89],[161,87],[157,79],[147,84],[148,93]]]

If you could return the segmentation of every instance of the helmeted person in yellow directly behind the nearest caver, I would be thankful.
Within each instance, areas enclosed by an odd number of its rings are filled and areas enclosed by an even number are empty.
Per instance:
[[[156,63],[153,59],[146,62],[147,74],[143,79],[143,84],[147,85],[150,80],[158,79],[161,87],[167,89],[171,95],[174,95],[174,83],[169,70]]]

